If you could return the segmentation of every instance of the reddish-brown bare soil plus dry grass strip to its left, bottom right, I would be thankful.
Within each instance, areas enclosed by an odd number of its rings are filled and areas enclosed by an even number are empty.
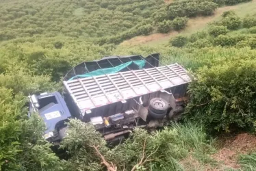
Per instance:
[[[218,145],[218,146],[217,146]],[[226,171],[240,169],[238,157],[256,150],[256,136],[248,133],[238,135],[223,135],[216,141],[218,153],[211,155],[216,163],[201,163],[192,155],[179,161],[181,166],[188,171]]]

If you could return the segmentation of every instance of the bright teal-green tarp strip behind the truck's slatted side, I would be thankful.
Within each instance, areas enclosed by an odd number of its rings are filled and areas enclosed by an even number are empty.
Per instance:
[[[132,63],[138,65],[139,68],[142,69],[145,65],[145,60],[131,61],[131,62],[126,62],[124,64],[120,64],[120,65],[112,67],[112,68],[103,68],[103,69],[99,69],[99,70],[94,70],[90,73],[85,73],[83,75],[76,75],[75,77],[72,77],[69,80],[73,80],[73,79],[77,79],[77,78],[85,78],[85,77],[92,77],[92,76],[118,73],[120,70],[123,70],[123,68],[131,65]]]

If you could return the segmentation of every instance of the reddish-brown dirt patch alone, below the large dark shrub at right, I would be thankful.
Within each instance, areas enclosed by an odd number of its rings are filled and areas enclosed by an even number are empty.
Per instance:
[[[256,136],[241,133],[235,137],[226,137],[222,143],[223,147],[212,157],[222,163],[221,168],[239,169],[238,156],[256,149]]]

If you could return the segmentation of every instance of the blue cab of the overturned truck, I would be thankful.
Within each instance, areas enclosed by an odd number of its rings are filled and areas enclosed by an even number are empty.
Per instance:
[[[65,123],[71,113],[59,92],[33,94],[29,97],[29,114],[38,113],[46,124],[44,139],[49,142],[61,141],[66,132]]]

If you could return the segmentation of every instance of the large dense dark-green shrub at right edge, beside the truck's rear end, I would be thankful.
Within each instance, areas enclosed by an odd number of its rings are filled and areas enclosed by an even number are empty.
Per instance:
[[[253,128],[256,62],[246,58],[199,69],[190,84],[186,119],[203,123],[209,131]]]

